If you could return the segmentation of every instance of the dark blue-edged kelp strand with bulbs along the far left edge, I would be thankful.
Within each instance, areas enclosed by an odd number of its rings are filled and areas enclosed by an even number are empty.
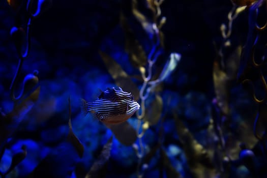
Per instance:
[[[16,11],[16,23],[14,27],[12,27],[10,35],[14,41],[19,64],[17,67],[16,74],[13,78],[13,81],[10,86],[10,96],[14,102],[13,110],[7,114],[3,111],[1,112],[1,140],[0,140],[0,159],[3,157],[6,144],[8,139],[10,139],[14,132],[17,130],[19,124],[23,120],[23,117],[27,114],[29,110],[32,109],[35,102],[38,100],[40,94],[40,85],[39,79],[37,77],[38,72],[34,71],[33,74],[28,74],[24,77],[22,90],[18,97],[15,96],[15,87],[17,84],[18,76],[20,75],[20,71],[22,68],[22,64],[24,58],[27,57],[29,53],[29,48],[31,46],[31,26],[32,20],[37,18],[40,14],[42,14],[50,5],[50,1],[38,1],[37,7],[33,7],[33,1],[29,0],[27,2],[26,7],[26,16],[28,17],[27,29],[26,29],[26,49],[23,52],[22,49],[24,47],[24,29],[21,27],[21,19],[22,11],[20,11],[24,5],[21,1],[8,1],[9,5]],[[22,145],[21,149],[17,150],[12,156],[11,165],[7,170],[1,170],[1,176],[5,177],[9,174],[27,155],[26,146]]]

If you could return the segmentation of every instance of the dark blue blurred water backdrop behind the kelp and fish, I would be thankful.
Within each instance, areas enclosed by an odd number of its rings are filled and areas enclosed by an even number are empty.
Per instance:
[[[178,107],[177,113],[185,125],[204,145],[208,145],[204,141],[204,135],[211,116],[211,101],[215,97],[212,78],[212,67],[216,57],[214,44],[219,48],[223,43],[220,25],[228,23],[227,14],[231,8],[230,0],[165,0],[161,6],[161,17],[165,16],[167,21],[162,27],[165,37],[164,52],[159,57],[156,67],[163,68],[171,52],[182,55],[179,66],[164,81],[164,89],[161,93],[163,101],[166,103],[170,97],[172,98],[171,104],[164,104],[164,111],[168,115],[170,105]],[[144,8],[144,12],[146,11],[147,9]],[[40,102],[21,123],[15,140],[24,141],[33,152],[39,150],[40,154],[45,153],[46,146],[56,144],[66,131],[62,125],[66,124],[67,98],[71,96],[73,128],[85,145],[83,161],[76,171],[80,175],[90,169],[108,136],[111,135],[100,122],[92,118],[82,118],[79,110],[79,98],[92,100],[98,88],[105,90],[106,87],[114,85],[101,60],[99,50],[113,57],[130,76],[139,75],[138,71],[130,65],[124,50],[125,38],[119,24],[121,12],[130,21],[145,52],[149,53],[152,43],[132,14],[131,1],[58,0],[53,1],[52,7],[33,21],[31,51],[25,59],[19,76],[19,80],[22,81],[26,74],[38,70],[42,89]],[[239,44],[244,45],[247,37],[247,15],[247,12],[243,12],[234,20],[230,37],[232,46],[226,51],[225,56],[230,55]],[[18,63],[16,49],[10,37],[10,29],[15,25],[15,17],[16,12],[6,1],[1,1],[0,107],[5,112],[10,111],[13,105],[9,96],[9,87]],[[25,27],[25,17],[21,17],[21,22],[24,25],[22,27]],[[138,84],[140,87],[140,83]],[[247,117],[253,115],[254,109],[240,112],[253,104],[250,103],[251,98],[247,93],[243,93],[236,81],[233,81],[233,85],[231,95],[235,97],[231,98],[234,101],[231,108],[235,108],[232,112],[235,118],[234,128],[243,121],[243,116],[247,112],[250,114],[246,115]],[[236,96],[240,91],[242,93]],[[38,120],[31,119],[40,113],[42,116],[39,116]],[[49,120],[46,119],[47,117]],[[132,118],[130,122],[135,125],[136,118]],[[173,165],[180,165],[176,167],[177,171],[184,177],[190,177],[179,136],[170,118],[166,119],[164,130],[166,152],[169,153],[173,145],[181,152],[177,156],[179,158],[172,157],[170,153]],[[149,147],[153,147],[158,139],[157,133],[158,128],[152,127],[145,134],[143,141]],[[31,145],[37,145],[37,148]],[[31,166],[28,166],[28,169],[23,169],[22,166],[18,168],[19,171],[22,170],[24,174],[30,172],[31,167],[34,167],[40,158],[42,156],[29,157],[28,162],[24,164]],[[149,171],[145,174],[146,177],[158,175],[158,160],[159,158],[155,156]],[[134,177],[136,162],[131,147],[124,147],[120,142],[114,141],[108,168],[109,177]],[[244,172],[246,176],[249,175],[247,170]],[[242,175],[239,173],[232,174]]]

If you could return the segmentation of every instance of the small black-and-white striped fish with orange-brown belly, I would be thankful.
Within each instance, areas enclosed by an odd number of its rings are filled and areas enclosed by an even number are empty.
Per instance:
[[[83,101],[85,112],[92,112],[99,121],[106,124],[120,124],[128,120],[140,105],[131,93],[124,92],[121,87],[107,88],[94,102]]]

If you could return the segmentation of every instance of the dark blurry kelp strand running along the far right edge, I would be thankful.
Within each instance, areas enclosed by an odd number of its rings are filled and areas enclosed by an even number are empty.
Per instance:
[[[253,125],[253,134],[258,142],[250,149],[246,144],[242,145],[240,153],[242,163],[250,170],[253,176],[257,177],[266,176],[266,171],[263,168],[266,166],[266,127],[264,124],[266,112],[266,81],[264,77],[266,41],[261,35],[264,34],[267,23],[265,18],[262,21],[258,20],[262,13],[266,13],[266,7],[263,5],[266,6],[266,1],[257,1],[249,9],[249,31],[246,45],[242,51],[238,73],[238,80],[244,86],[247,87],[248,84],[252,86],[250,91],[253,100],[258,104],[258,112]],[[260,59],[258,59],[259,56],[261,56]],[[262,85],[260,89],[259,85]],[[259,95],[256,94],[260,90],[262,90],[262,92],[259,92],[263,95],[262,99],[259,99]],[[260,152],[256,151],[257,146],[260,146]]]

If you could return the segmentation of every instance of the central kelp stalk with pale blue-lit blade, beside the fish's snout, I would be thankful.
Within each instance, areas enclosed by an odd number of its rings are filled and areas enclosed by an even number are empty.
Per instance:
[[[161,90],[161,87],[157,86],[163,82],[166,78],[171,75],[171,73],[176,69],[177,64],[179,64],[181,55],[178,53],[171,53],[164,68],[157,74],[157,78],[153,76],[153,67],[156,64],[159,56],[163,53],[164,46],[164,35],[160,31],[160,28],[165,23],[166,18],[162,17],[160,22],[158,19],[161,16],[160,5],[164,1],[143,1],[147,6],[147,10],[149,10],[153,15],[152,18],[145,16],[142,12],[139,11],[138,5],[140,2],[132,1],[132,13],[134,17],[141,23],[143,31],[149,36],[152,41],[152,48],[148,55],[146,55],[145,50],[142,45],[137,40],[133,30],[131,29],[127,18],[121,13],[120,14],[120,22],[121,27],[123,28],[123,32],[125,34],[125,51],[129,56],[129,61],[133,65],[133,67],[137,68],[141,74],[142,84],[140,90],[137,89],[136,84],[132,82],[127,73],[118,66],[118,64],[114,63],[113,59],[109,57],[107,54],[100,51],[100,55],[107,67],[109,73],[115,80],[115,83],[119,86],[122,86],[128,90],[131,90],[134,96],[140,100],[140,109],[137,111],[137,126],[136,127],[136,136],[137,143],[131,142],[133,144],[133,148],[136,152],[136,156],[138,158],[137,164],[137,177],[143,177],[144,171],[147,168],[147,164],[149,164],[151,158],[156,154],[158,150],[161,151],[162,159],[164,159],[165,164],[164,167],[167,170],[171,170],[169,174],[173,176],[178,176],[177,173],[170,164],[168,157],[165,154],[165,151],[162,148],[162,145],[159,144],[155,146],[149,153],[144,149],[144,143],[142,137],[144,136],[146,130],[150,127],[158,124],[162,113],[163,101],[159,94],[157,94]],[[116,66],[116,67],[115,67]],[[136,99],[138,101],[138,99]],[[147,108],[147,106],[149,106]],[[162,127],[162,126],[161,126]],[[120,133],[122,134],[122,133]],[[124,142],[122,139],[119,139]],[[135,140],[133,140],[135,141]]]

